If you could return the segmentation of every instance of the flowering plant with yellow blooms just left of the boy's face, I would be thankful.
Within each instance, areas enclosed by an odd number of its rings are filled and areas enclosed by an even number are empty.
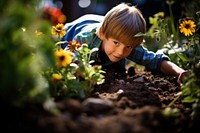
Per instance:
[[[50,84],[51,95],[55,98],[85,98],[91,94],[94,86],[104,82],[101,66],[92,66],[91,55],[98,49],[89,49],[87,44],[77,41],[61,41],[66,29],[63,24],[53,26],[52,33],[56,40],[54,67],[44,72]],[[57,38],[56,38],[57,37]],[[62,43],[68,43],[65,50]]]

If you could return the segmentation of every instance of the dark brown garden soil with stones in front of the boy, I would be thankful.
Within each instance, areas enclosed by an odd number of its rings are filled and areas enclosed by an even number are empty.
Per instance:
[[[61,111],[53,115],[41,105],[23,109],[3,105],[1,132],[18,133],[195,133],[199,120],[192,120],[191,104],[181,98],[171,105],[172,115],[164,109],[181,92],[175,77],[143,70],[134,75],[106,73],[106,81],[85,99],[57,100]],[[176,113],[177,109],[180,111]],[[165,110],[166,111],[166,110]],[[168,110],[169,112],[169,110]]]

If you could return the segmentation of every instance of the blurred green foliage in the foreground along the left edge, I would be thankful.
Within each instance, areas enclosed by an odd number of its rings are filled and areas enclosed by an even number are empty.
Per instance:
[[[36,30],[50,33],[50,24],[35,10],[37,4],[35,0],[1,1],[1,102],[42,103],[50,97],[40,72],[51,64],[53,56],[46,55],[51,53],[53,41],[35,35]]]

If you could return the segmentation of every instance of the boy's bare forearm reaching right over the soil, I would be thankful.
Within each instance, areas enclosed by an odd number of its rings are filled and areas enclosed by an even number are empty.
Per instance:
[[[184,77],[188,73],[187,71],[180,68],[179,66],[177,66],[173,62],[167,61],[167,60],[162,61],[160,70],[165,74],[178,77],[177,82],[179,84],[181,84],[183,82]]]

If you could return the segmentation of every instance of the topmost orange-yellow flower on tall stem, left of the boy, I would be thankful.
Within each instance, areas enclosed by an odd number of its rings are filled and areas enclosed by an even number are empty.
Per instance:
[[[64,28],[63,24],[57,24],[56,26],[53,26],[51,33],[63,37],[66,34],[66,28]]]

